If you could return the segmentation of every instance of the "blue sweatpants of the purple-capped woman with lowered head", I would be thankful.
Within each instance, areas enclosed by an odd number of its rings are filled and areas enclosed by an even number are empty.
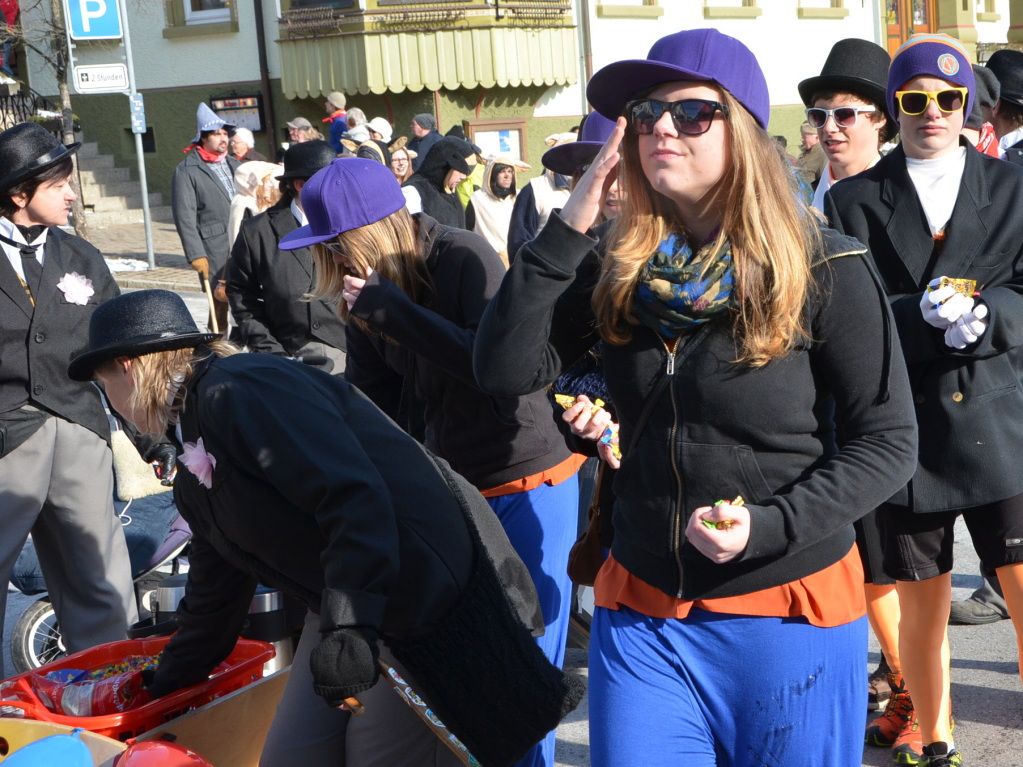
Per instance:
[[[513,548],[522,557],[540,598],[546,632],[536,643],[558,668],[565,662],[565,641],[572,610],[569,549],[578,537],[579,483],[575,475],[558,485],[488,498]],[[537,743],[516,767],[552,767],[554,731]]]

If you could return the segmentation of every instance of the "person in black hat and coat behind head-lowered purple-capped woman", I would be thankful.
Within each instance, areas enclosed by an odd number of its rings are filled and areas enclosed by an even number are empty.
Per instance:
[[[284,152],[281,198],[241,224],[227,267],[227,298],[237,324],[232,336],[252,352],[323,356],[332,372],[345,370],[345,323],[323,301],[304,301],[313,289],[308,247],[279,251],[285,234],[305,226],[300,192],[335,157],[326,141],[305,141]]]

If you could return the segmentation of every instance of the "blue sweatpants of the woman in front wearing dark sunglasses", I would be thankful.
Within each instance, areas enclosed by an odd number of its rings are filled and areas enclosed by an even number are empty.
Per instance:
[[[865,618],[593,616],[592,767],[859,767],[865,698]]]

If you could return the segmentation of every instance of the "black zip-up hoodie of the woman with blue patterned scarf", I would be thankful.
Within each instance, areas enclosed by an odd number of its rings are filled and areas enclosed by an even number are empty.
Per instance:
[[[890,310],[865,249],[822,234],[806,307],[812,342],[785,358],[735,362],[727,319],[691,331],[674,354],[646,327],[606,345],[624,446],[612,550],[667,594],[735,596],[824,570],[848,553],[852,523],[913,475],[917,428]],[[555,214],[519,252],[477,333],[484,390],[540,390],[595,343],[596,244]],[[684,530],[696,508],[737,495],[751,514],[749,544],[717,565]]]

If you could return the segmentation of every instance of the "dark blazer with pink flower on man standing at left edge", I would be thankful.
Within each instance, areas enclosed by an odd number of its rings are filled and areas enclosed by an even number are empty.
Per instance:
[[[0,254],[0,412],[31,402],[109,442],[99,390],[69,378],[68,362],[89,344],[92,312],[120,290],[99,251],[84,239],[51,227],[45,249],[35,307]],[[72,272],[92,282],[85,306],[69,303],[57,287]]]

